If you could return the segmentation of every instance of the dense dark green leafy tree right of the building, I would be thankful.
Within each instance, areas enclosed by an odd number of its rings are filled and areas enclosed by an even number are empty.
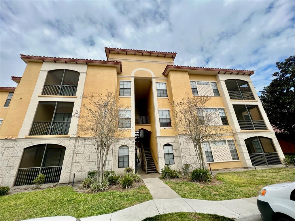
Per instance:
[[[273,73],[272,82],[263,88],[260,100],[269,121],[280,134],[295,135],[295,55],[276,62],[280,72]]]

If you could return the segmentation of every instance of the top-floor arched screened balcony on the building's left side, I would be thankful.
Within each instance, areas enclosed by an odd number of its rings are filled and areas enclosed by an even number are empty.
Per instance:
[[[48,71],[42,95],[76,96],[79,75],[72,70]]]

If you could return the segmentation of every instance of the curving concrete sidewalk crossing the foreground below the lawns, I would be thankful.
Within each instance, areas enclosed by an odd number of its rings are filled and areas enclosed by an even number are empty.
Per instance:
[[[211,201],[200,199],[152,199],[117,212],[81,218],[81,221],[141,221],[146,217],[170,212],[201,212],[231,218],[259,214],[257,197]]]

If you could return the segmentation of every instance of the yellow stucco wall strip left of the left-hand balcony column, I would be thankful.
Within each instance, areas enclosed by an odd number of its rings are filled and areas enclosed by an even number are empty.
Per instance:
[[[0,128],[0,138],[12,136],[16,138],[22,127],[24,117],[35,89],[42,67],[42,62],[28,62],[22,80],[14,91],[5,119]],[[21,107],[21,111],[20,111]]]

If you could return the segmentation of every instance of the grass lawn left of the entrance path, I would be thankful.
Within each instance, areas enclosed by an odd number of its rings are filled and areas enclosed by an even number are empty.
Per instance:
[[[95,216],[153,199],[145,186],[129,191],[107,191],[95,194],[77,193],[72,187],[0,197],[1,221],[24,220],[46,216]]]

